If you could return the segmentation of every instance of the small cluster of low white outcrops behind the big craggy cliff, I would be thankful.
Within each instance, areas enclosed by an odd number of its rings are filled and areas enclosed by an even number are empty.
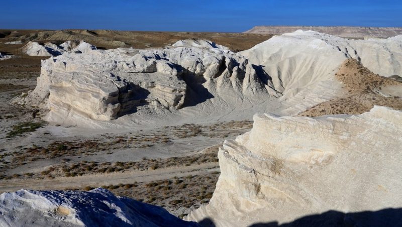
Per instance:
[[[69,40],[60,45],[54,43],[40,44],[30,41],[23,47],[23,51],[29,56],[58,56],[65,52],[85,53],[89,50],[95,50],[96,47],[84,41]]]

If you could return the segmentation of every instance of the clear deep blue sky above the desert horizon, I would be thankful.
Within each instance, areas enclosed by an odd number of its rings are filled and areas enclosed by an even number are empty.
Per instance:
[[[0,0],[2,29],[243,32],[256,25],[402,27],[402,0]]]

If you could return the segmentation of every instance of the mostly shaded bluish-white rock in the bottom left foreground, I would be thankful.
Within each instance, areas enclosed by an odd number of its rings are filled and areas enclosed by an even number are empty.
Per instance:
[[[161,207],[110,191],[32,191],[0,195],[1,226],[198,226]]]

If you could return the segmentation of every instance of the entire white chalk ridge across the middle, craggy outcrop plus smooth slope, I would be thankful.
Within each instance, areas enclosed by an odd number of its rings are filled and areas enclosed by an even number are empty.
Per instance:
[[[50,109],[45,120],[59,124],[294,116],[344,92],[335,73],[348,58],[381,76],[402,75],[402,36],[348,40],[299,30],[239,53],[205,40],[144,50],[69,45],[42,62],[36,89],[18,100]]]

